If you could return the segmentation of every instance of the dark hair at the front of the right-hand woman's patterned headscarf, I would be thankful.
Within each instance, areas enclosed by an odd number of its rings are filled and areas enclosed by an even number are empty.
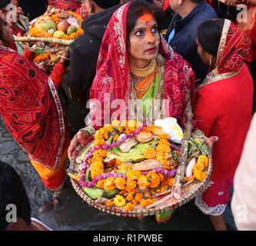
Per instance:
[[[205,52],[217,55],[224,18],[214,18],[198,26],[198,42]]]

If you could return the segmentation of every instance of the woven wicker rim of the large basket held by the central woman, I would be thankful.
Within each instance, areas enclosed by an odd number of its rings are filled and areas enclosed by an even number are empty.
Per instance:
[[[78,170],[79,164],[75,162],[75,158],[77,156],[79,156],[81,154],[81,152],[84,151],[90,144],[91,143],[89,143],[88,145],[86,145],[84,147],[82,147],[81,145],[78,146],[78,148],[75,151],[76,155],[73,155],[71,158],[70,168],[74,168],[74,169]],[[210,149],[209,149],[209,153],[211,153]],[[198,194],[201,194],[208,187],[208,182],[211,177],[211,171],[212,171],[211,154],[208,155],[208,158],[209,158],[209,165],[208,165],[208,170],[207,170],[207,176],[204,179],[204,181],[202,181],[201,183],[198,183],[198,184],[188,185],[186,188],[183,188],[184,192],[182,192],[183,194],[181,195],[180,199],[173,198],[173,197],[169,198],[167,201],[165,201],[165,203],[158,204],[157,208],[148,208],[148,209],[143,208],[140,210],[125,211],[125,209],[120,209],[120,208],[116,208],[116,207],[105,207],[104,204],[96,203],[94,200],[89,198],[85,194],[85,192],[82,190],[81,186],[76,181],[74,181],[72,178],[71,178],[71,184],[75,188],[75,191],[79,194],[79,196],[84,201],[86,201],[90,206],[97,208],[98,210],[100,210],[102,212],[117,215],[117,216],[122,216],[122,217],[141,218],[141,217],[150,216],[150,215],[154,215],[154,214],[158,214],[158,213],[163,213],[165,211],[169,211],[171,209],[181,207],[182,205],[188,203],[188,201],[191,201],[192,199],[194,199]]]

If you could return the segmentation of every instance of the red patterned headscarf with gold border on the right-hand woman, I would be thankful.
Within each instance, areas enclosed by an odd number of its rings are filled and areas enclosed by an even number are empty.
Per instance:
[[[241,71],[251,48],[251,40],[230,20],[225,19],[218,47],[217,68],[212,70],[201,86],[223,78],[231,78]]]

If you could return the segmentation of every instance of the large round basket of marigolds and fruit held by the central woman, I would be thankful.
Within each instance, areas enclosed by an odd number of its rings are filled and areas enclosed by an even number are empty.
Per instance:
[[[75,191],[100,211],[124,217],[154,215],[191,201],[207,188],[211,151],[201,131],[181,140],[176,122],[113,121],[96,131],[72,156],[68,175]]]

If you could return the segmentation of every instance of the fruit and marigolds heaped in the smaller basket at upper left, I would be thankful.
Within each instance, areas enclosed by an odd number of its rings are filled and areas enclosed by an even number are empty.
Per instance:
[[[79,35],[82,18],[71,11],[48,7],[45,15],[32,21],[27,36],[17,38],[24,48],[35,52],[36,65],[50,73],[64,52],[65,46],[71,45]]]

